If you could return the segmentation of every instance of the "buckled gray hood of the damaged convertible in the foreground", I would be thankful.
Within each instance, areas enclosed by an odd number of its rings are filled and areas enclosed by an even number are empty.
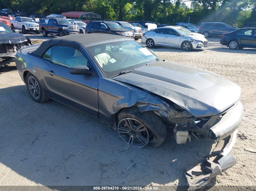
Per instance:
[[[195,117],[220,114],[241,96],[241,88],[228,79],[175,62],[155,62],[113,79],[171,100]]]

